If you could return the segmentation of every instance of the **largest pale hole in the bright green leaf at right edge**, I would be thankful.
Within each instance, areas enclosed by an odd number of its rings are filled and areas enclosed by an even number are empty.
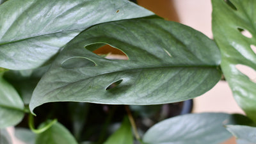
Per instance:
[[[251,81],[256,83],[256,71],[253,68],[248,67],[247,65],[241,65],[241,64],[236,65],[236,68],[242,74],[244,74],[245,76],[249,77],[249,79]]]

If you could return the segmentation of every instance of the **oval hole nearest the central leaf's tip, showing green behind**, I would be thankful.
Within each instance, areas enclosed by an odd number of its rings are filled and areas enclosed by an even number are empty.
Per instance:
[[[95,65],[93,61],[81,57],[69,58],[61,63],[63,68],[93,67]]]

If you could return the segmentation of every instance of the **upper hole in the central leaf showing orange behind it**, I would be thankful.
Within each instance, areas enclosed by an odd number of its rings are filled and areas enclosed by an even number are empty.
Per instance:
[[[115,47],[111,47],[111,45],[99,47],[99,49],[94,50],[93,53],[109,60],[129,60],[125,52]]]

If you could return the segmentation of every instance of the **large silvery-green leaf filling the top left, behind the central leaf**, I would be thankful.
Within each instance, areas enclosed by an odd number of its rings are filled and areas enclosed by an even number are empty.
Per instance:
[[[0,67],[38,67],[90,26],[152,14],[127,0],[6,1],[0,5]]]

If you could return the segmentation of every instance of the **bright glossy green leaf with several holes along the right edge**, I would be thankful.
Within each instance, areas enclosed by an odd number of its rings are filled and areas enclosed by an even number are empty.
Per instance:
[[[256,122],[256,84],[237,69],[246,65],[256,70],[252,50],[256,45],[256,1],[212,0],[212,8],[212,31],[221,49],[221,69],[237,103]],[[243,31],[249,31],[252,38],[244,36]]]

